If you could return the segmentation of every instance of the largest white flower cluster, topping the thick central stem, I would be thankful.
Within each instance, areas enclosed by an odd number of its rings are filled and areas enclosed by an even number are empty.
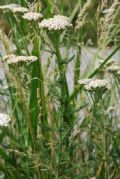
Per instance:
[[[44,19],[39,23],[39,28],[48,30],[64,30],[71,26],[69,18],[62,15],[55,15],[53,18]]]

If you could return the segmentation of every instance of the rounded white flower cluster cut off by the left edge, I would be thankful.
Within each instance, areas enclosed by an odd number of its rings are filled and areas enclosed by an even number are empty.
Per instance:
[[[7,127],[11,121],[9,115],[0,113],[0,127]]]

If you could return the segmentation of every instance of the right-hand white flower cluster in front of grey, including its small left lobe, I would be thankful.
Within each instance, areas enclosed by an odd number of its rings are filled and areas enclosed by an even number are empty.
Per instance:
[[[100,79],[81,79],[79,80],[80,85],[84,85],[85,90],[110,90],[110,83],[106,80]]]

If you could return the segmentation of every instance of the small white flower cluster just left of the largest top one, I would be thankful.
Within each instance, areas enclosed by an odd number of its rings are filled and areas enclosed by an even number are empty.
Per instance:
[[[32,21],[32,20],[37,21],[40,18],[42,18],[43,15],[37,12],[27,12],[22,17],[23,19],[26,19],[28,21]]]

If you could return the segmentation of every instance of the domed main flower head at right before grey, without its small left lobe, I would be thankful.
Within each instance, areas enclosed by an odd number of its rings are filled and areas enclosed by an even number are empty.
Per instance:
[[[87,91],[107,91],[110,90],[110,83],[107,80],[94,79],[85,85]]]

